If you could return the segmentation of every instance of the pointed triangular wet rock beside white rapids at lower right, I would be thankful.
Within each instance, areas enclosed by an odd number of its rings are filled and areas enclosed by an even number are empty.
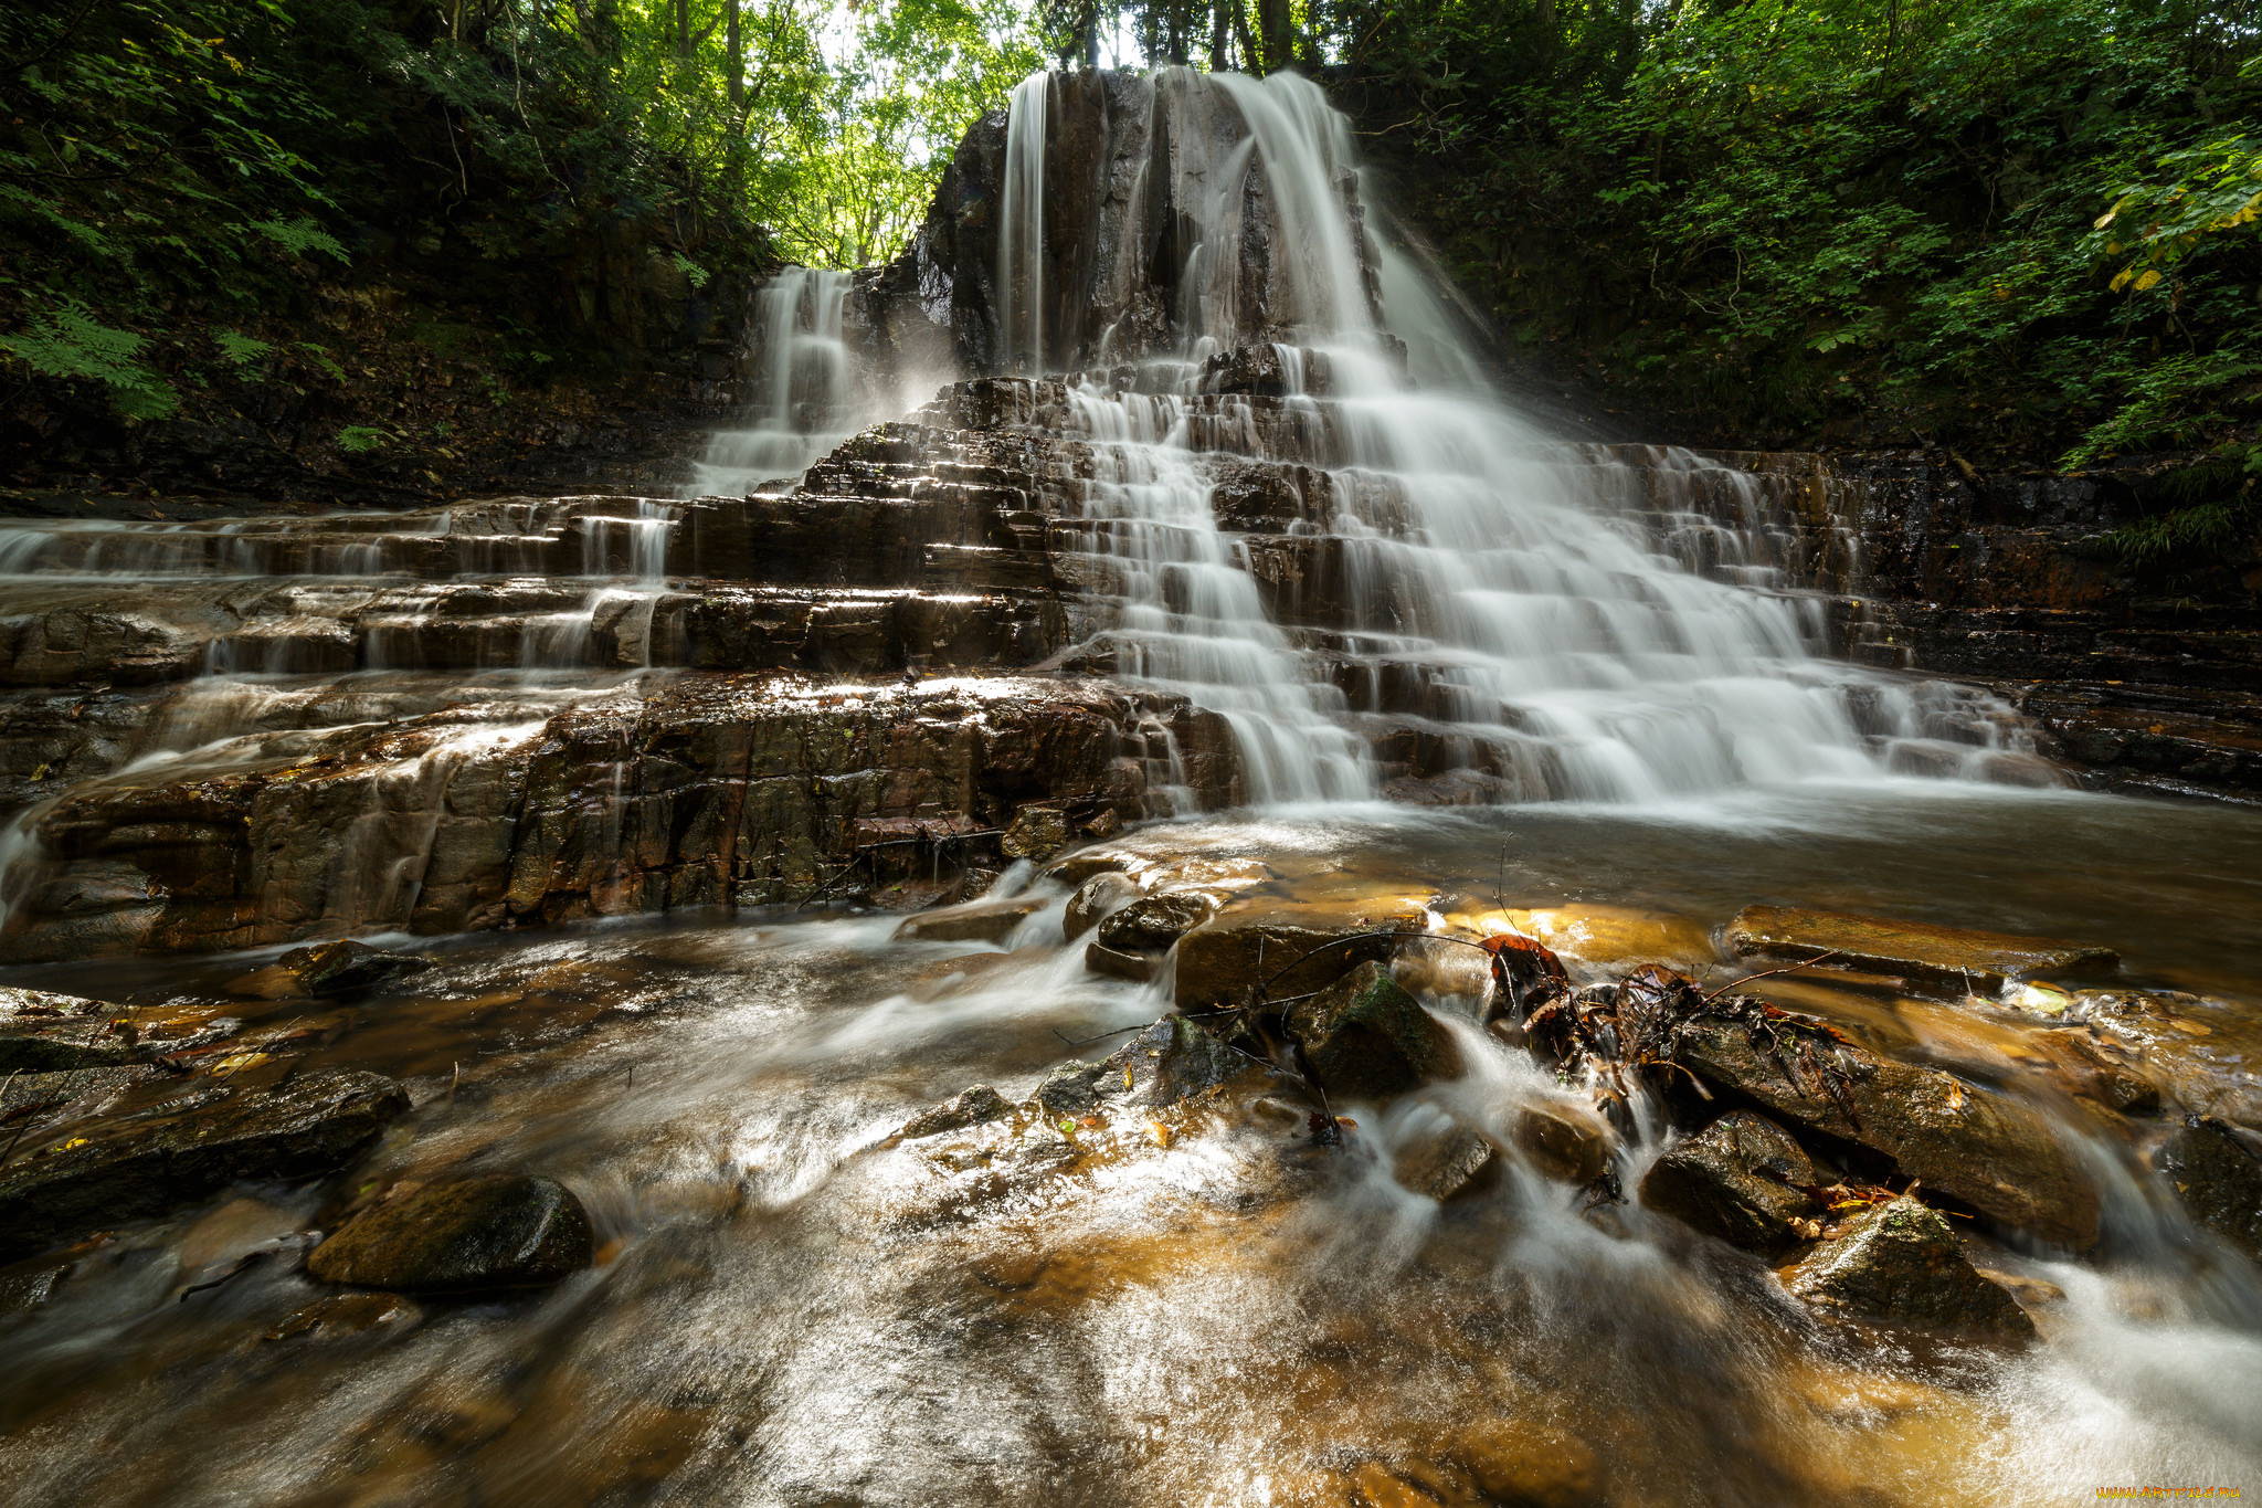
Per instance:
[[[2004,1338],[2034,1334],[2018,1300],[1982,1277],[1948,1221],[1914,1198],[1846,1221],[1782,1282],[1810,1305],[1853,1318]]]

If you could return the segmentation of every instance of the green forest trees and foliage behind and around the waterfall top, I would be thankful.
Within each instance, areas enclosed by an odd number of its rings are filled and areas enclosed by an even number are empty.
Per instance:
[[[2262,0],[9,7],[0,348],[163,416],[382,274],[534,364],[563,265],[884,260],[1018,77],[1165,61],[1319,77],[1511,353],[1676,432],[2262,468]]]

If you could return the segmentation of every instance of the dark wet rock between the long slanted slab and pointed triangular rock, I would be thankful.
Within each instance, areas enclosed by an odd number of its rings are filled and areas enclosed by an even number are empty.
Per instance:
[[[1778,1253],[1814,1234],[1814,1164],[1782,1126],[1730,1110],[1658,1158],[1642,1203],[1751,1253]]]

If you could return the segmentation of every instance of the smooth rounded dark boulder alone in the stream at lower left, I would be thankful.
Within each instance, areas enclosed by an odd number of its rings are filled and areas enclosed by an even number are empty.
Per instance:
[[[552,1284],[590,1264],[588,1212],[554,1178],[421,1185],[360,1212],[305,1259],[323,1282],[407,1293]]]

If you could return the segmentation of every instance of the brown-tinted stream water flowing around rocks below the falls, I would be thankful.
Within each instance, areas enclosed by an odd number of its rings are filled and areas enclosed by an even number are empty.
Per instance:
[[[1538,911],[1592,974],[1701,954],[1760,900],[2104,943],[2126,983],[2203,997],[2147,1040],[2162,1072],[2257,1099],[2262,812],[1871,785],[1690,814],[1285,812],[1120,846],[1255,859],[1246,895]],[[418,941],[439,970],[342,1006],[247,993],[271,954],[14,970],[179,1029],[235,1017],[301,1067],[403,1076],[416,1110],[351,1187],[124,1228],[0,1316],[0,1499],[1285,1503],[1384,1501],[1387,1472],[1475,1501],[1466,1436],[1502,1420],[1583,1442],[1534,1501],[2262,1490],[2262,1282],[2124,1142],[2088,1133],[2092,1259],[1986,1248],[2063,1291],[2029,1289],[2040,1345],[1825,1332],[1758,1259],[1638,1205],[1581,1214],[1525,1169],[1445,1207],[1400,1189],[1391,1146],[1441,1110],[1563,1097],[1473,1026],[1461,1081],[1350,1108],[1335,1151],[1262,1108],[880,1146],[1165,1008],[1088,974],[1059,904],[1009,950],[891,943],[896,920]],[[1466,1020],[1466,972],[1405,974]],[[1769,983],[1898,1051],[2022,1072],[1997,1051],[2020,1022],[1984,1004]],[[328,1291],[287,1259],[185,1293],[378,1185],[470,1169],[563,1178],[599,1264],[491,1302],[310,1311]]]

